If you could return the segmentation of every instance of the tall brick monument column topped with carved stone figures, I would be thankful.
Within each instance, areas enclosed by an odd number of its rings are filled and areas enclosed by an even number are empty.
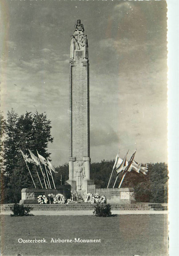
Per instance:
[[[71,35],[69,61],[69,180],[72,192],[88,192],[90,180],[90,95],[88,40],[81,20]]]

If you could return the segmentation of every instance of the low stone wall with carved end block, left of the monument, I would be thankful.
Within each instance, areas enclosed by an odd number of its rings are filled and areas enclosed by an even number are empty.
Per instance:
[[[37,196],[48,194],[57,195],[58,193],[63,194],[67,199],[71,196],[71,186],[61,185],[57,189],[43,189],[43,188],[23,188],[21,190],[20,204],[38,204]]]

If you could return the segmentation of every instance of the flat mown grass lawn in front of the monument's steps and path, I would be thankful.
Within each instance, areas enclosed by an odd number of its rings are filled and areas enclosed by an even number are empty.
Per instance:
[[[1,255],[168,255],[167,215],[1,216]],[[46,243],[19,243],[18,239]],[[101,239],[101,242],[52,243],[61,240]]]

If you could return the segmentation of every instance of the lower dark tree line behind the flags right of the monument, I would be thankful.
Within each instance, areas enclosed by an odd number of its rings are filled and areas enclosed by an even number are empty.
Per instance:
[[[91,163],[91,179],[97,186],[107,188],[111,175],[113,161],[102,161],[100,163]],[[142,164],[148,167],[147,175],[127,172],[122,188],[132,187],[135,190],[135,199],[137,202],[167,203],[168,200],[168,170],[165,163],[147,163]],[[119,186],[123,174],[120,173],[116,186]],[[110,187],[113,186],[116,178],[116,172],[112,178]]]

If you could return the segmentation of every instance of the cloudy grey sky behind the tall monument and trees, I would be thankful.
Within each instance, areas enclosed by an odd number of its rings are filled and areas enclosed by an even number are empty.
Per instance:
[[[90,157],[120,149],[167,162],[165,1],[1,1],[1,111],[47,114],[52,164],[69,158],[70,39],[81,19],[90,63]]]

